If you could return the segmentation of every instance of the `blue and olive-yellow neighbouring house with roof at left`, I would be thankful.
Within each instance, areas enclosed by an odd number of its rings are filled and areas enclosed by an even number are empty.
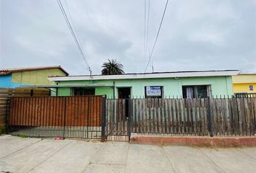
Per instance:
[[[4,68],[0,69],[0,87],[54,84],[53,81],[48,81],[48,76],[67,75],[69,74],[61,66]]]

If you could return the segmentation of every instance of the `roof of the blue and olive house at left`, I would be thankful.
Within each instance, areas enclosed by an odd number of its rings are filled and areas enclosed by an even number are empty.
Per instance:
[[[0,69],[0,75],[11,74],[14,71],[35,71],[35,70],[46,70],[46,69],[55,69],[59,68],[66,75],[69,75],[67,71],[64,70],[61,66],[37,66],[37,67],[20,67],[20,68],[2,68]]]

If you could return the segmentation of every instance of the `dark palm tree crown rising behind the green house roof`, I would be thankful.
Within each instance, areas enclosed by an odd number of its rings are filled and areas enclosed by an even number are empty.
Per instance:
[[[108,59],[108,62],[103,63],[102,75],[124,74],[123,65],[116,60]]]

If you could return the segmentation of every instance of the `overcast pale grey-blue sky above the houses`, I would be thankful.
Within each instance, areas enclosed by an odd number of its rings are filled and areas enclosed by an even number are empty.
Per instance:
[[[56,0],[0,1],[0,68],[60,65],[71,75],[89,74]],[[125,73],[144,73],[145,0],[66,1],[93,74],[108,59],[122,63]],[[150,1],[149,51],[165,4]],[[256,73],[256,0],[169,0],[147,72],[152,66],[155,72]]]

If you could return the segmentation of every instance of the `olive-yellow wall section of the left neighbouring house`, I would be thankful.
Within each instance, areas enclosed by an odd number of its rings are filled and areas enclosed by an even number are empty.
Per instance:
[[[49,81],[48,76],[66,76],[59,68],[30,70],[30,71],[14,71],[12,72],[12,82],[17,84],[30,85],[50,85],[55,84],[54,81]]]

